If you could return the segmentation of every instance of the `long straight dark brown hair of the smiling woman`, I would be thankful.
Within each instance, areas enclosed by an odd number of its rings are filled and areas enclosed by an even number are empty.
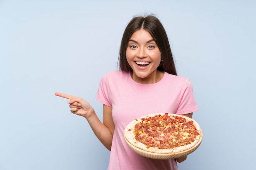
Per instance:
[[[132,68],[126,60],[126,49],[128,47],[130,37],[135,31],[139,29],[145,29],[148,31],[160,50],[162,62],[157,67],[157,70],[177,75],[166,31],[164,30],[164,26],[161,24],[158,18],[153,15],[147,15],[145,17],[138,16],[132,18],[132,20],[126,26],[119,51],[120,70],[132,71]]]

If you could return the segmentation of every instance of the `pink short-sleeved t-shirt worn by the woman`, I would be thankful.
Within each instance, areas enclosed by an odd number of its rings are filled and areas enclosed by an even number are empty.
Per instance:
[[[112,107],[115,123],[108,170],[178,169],[175,159],[149,159],[133,152],[124,140],[124,128],[137,117],[151,113],[182,115],[197,111],[189,79],[164,73],[155,84],[139,84],[129,72],[111,71],[103,75],[96,97]]]

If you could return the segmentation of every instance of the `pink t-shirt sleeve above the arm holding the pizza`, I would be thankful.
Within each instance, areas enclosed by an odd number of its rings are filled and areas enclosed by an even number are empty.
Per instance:
[[[180,94],[180,101],[177,108],[177,115],[183,115],[187,113],[192,113],[198,110],[198,106],[195,102],[193,95],[193,87],[189,79],[186,79],[186,82],[182,88]]]

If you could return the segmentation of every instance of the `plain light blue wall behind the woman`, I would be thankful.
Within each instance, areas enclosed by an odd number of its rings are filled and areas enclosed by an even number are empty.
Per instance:
[[[102,118],[101,76],[118,69],[126,24],[155,13],[193,84],[202,144],[180,170],[253,170],[254,0],[0,0],[0,170],[104,170],[110,152],[67,99]]]

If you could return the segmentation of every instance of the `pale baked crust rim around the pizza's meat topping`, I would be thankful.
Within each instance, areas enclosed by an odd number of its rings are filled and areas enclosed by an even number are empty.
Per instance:
[[[185,146],[179,146],[179,147],[175,147],[175,148],[167,148],[167,149],[159,149],[157,147],[147,147],[145,144],[137,141],[135,139],[135,134],[133,132],[133,130],[135,129],[135,125],[140,123],[142,120],[142,118],[148,118],[148,117],[154,117],[155,115],[164,115],[165,113],[157,113],[157,114],[150,114],[150,115],[146,115],[143,117],[139,117],[135,120],[133,120],[132,122],[130,122],[130,124],[128,124],[124,130],[124,137],[126,138],[126,143],[128,143],[129,145],[132,145],[133,147],[136,147],[140,150],[146,151],[146,152],[150,152],[152,154],[175,154],[175,153],[179,153],[179,152],[183,152],[186,150],[189,150],[190,148],[193,148],[196,145],[200,144],[200,139],[202,138],[202,130],[200,129],[199,124],[186,116],[182,116],[182,115],[176,115],[176,114],[168,114],[170,116],[178,116],[178,117],[183,117],[186,120],[189,121],[193,121],[194,126],[196,127],[197,131],[199,132],[199,135],[196,136],[196,138],[194,139],[194,142],[191,142],[191,144],[187,144]],[[201,139],[202,140],[202,139]]]

